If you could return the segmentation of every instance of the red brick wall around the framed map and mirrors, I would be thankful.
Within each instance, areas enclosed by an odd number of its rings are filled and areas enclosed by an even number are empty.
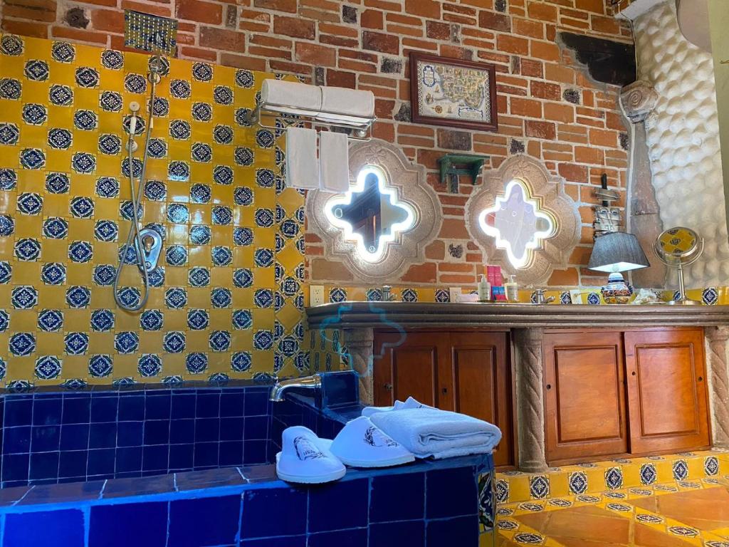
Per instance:
[[[122,48],[123,9],[179,19],[179,56],[227,66],[297,74],[327,85],[372,90],[380,119],[375,136],[401,145],[428,168],[443,203],[440,238],[427,262],[401,284],[468,285],[483,257],[463,222],[471,190],[440,185],[436,160],[451,150],[491,157],[485,168],[524,152],[564,176],[580,203],[582,242],[572,267],[550,284],[596,284],[584,269],[590,256],[593,189],[605,172],[625,188],[627,136],[615,86],[592,82],[558,31],[632,42],[627,23],[612,17],[611,0],[4,0],[2,28]],[[410,51],[495,63],[499,131],[453,131],[409,123]],[[448,244],[467,246],[464,261],[446,258]],[[350,284],[345,268],[326,263],[316,236],[307,236],[313,279]],[[338,266],[338,267],[337,267]]]

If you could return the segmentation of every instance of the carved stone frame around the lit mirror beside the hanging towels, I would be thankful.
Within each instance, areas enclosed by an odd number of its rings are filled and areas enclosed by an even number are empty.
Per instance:
[[[424,262],[424,249],[440,232],[443,212],[437,194],[426,182],[424,166],[410,163],[398,147],[379,139],[351,145],[350,181],[356,180],[359,171],[367,166],[380,168],[386,176],[386,185],[395,190],[397,201],[407,203],[415,212],[413,227],[397,233],[378,260],[370,262],[359,256],[356,243],[346,240],[343,230],[327,219],[324,212],[327,201],[343,194],[311,190],[306,197],[306,214],[309,228],[324,241],[327,260],[342,262],[359,282],[386,284],[397,279],[410,265]]]

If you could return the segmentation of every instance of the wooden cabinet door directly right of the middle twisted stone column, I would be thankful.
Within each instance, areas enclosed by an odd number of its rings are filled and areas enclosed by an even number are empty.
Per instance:
[[[627,452],[621,333],[546,333],[544,367],[547,461]]]

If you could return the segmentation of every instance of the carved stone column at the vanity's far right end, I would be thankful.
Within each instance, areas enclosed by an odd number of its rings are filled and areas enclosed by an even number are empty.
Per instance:
[[[706,327],[706,368],[711,371],[712,389],[709,403],[712,412],[714,446],[729,448],[729,376],[727,341],[729,327]]]

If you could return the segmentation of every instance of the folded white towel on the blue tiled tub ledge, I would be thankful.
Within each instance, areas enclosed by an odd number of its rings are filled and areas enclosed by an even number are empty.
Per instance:
[[[377,412],[370,419],[419,458],[488,454],[502,437],[494,424],[437,408]]]

